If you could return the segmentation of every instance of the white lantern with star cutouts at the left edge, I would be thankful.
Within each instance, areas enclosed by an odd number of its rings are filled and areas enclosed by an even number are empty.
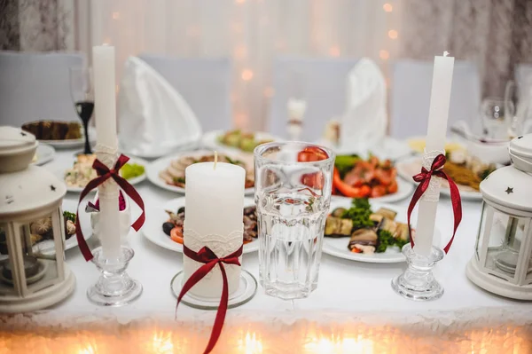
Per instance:
[[[0,127],[0,312],[43,309],[75,286],[64,254],[66,187],[29,165],[37,146],[35,136]]]

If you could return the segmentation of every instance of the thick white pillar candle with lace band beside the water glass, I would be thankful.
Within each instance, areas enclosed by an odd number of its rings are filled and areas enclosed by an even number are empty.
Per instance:
[[[198,252],[207,246],[216,256],[228,256],[242,246],[246,170],[230,163],[194,163],[185,169],[184,245]],[[184,281],[201,265],[184,256]],[[224,264],[229,293],[239,288],[241,268]],[[193,295],[220,297],[220,267],[190,290]]]

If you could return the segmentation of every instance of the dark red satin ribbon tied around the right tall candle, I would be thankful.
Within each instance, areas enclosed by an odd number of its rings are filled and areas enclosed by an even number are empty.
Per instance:
[[[414,195],[412,196],[412,200],[410,205],[408,206],[408,230],[410,234],[412,234],[411,230],[411,213],[416,204],[419,201],[419,198],[425,193],[426,188],[428,188],[428,184],[430,182],[430,178],[433,176],[441,177],[443,179],[446,179],[449,182],[449,188],[450,188],[450,202],[452,203],[452,213],[454,216],[454,230],[452,232],[452,237],[450,238],[449,243],[443,248],[445,253],[449,252],[450,245],[452,245],[452,241],[454,240],[455,234],[457,233],[458,225],[462,221],[462,200],[460,198],[460,192],[458,191],[458,186],[454,183],[454,181],[447,176],[445,172],[443,172],[443,165],[445,165],[445,155],[440,153],[436,158],[434,159],[430,171],[426,170],[425,168],[421,169],[421,172],[414,176],[414,181],[419,182],[418,188],[416,188],[416,192],[414,192]],[[411,246],[414,247],[414,238],[411,237]]]

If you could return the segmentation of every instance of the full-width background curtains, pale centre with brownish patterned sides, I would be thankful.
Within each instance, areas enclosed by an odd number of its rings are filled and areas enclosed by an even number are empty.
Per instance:
[[[230,57],[235,123],[254,130],[278,55],[366,56],[388,76],[395,59],[450,51],[476,63],[484,96],[502,96],[514,65],[532,61],[529,0],[0,0],[0,11],[0,48],[89,54],[110,43],[119,76],[143,52]]]

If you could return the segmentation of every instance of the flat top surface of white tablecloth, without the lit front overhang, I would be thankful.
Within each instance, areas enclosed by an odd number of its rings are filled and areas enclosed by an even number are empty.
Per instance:
[[[72,151],[59,150],[56,158],[44,165],[55,173],[68,168],[74,155]],[[149,181],[137,185],[137,191],[145,201],[146,217],[168,200],[181,196],[164,191]],[[77,193],[67,193],[66,200],[76,201]],[[406,208],[409,200],[395,205]],[[464,216],[458,229],[456,241],[450,254],[440,262],[434,274],[445,288],[440,300],[416,303],[395,295],[390,280],[401,273],[405,264],[364,264],[323,255],[320,266],[317,290],[308,299],[297,300],[295,311],[458,311],[476,307],[520,306],[524,304],[489,294],[476,287],[465,277],[465,264],[473,256],[474,241],[481,217],[481,202],[464,201]],[[443,239],[452,232],[452,210],[450,200],[442,197],[438,208],[437,227]],[[135,257],[129,265],[129,274],[138,279],[144,287],[143,295],[130,306],[114,309],[101,308],[89,303],[85,292],[90,284],[98,279],[94,264],[86,263],[78,248],[66,251],[66,262],[73,269],[77,285],[74,295],[55,307],[56,313],[111,313],[119,317],[138,318],[160,314],[173,317],[176,299],[170,293],[170,279],[182,269],[183,256],[168,249],[160,248],[146,240],[142,230],[129,234],[130,244],[135,249]],[[244,255],[243,268],[258,279],[258,256],[256,253]],[[290,302],[278,300],[264,294],[259,286],[257,294],[249,303],[239,307],[241,311],[278,311],[292,309]],[[179,313],[197,312],[181,306]]]

